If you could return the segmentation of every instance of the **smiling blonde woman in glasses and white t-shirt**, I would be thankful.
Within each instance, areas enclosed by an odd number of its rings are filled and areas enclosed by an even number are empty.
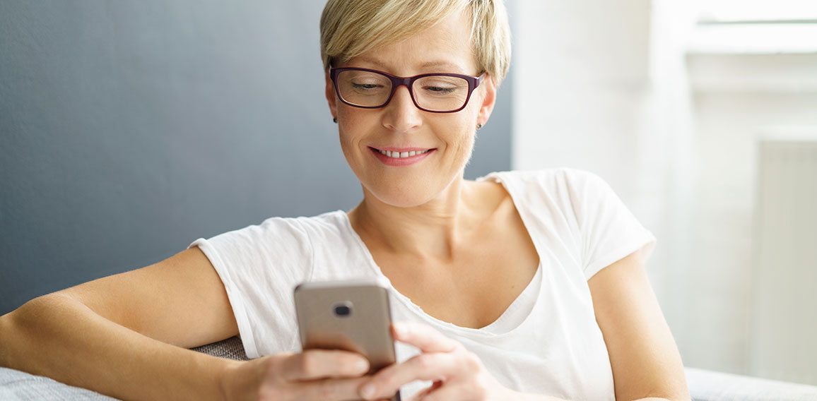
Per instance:
[[[123,399],[689,399],[643,264],[596,176],[463,179],[510,59],[500,0],[330,0],[326,97],[364,199],[29,301],[0,365]],[[292,287],[385,277],[399,363],[297,352]],[[241,335],[247,362],[185,350]],[[429,385],[431,382],[431,385]]]

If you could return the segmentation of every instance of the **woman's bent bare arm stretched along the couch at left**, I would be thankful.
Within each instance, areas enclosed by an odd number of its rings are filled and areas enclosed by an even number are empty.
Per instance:
[[[234,362],[184,348],[237,333],[221,279],[191,248],[3,315],[0,366],[121,399],[222,399]]]

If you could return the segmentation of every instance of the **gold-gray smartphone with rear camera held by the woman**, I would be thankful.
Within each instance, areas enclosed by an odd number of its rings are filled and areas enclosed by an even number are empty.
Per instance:
[[[304,350],[347,350],[368,359],[368,374],[395,363],[391,309],[382,278],[302,283],[295,312]],[[400,401],[400,392],[393,401]]]

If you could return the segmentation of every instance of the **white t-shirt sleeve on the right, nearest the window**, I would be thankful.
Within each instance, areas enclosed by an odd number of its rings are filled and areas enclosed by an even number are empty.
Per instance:
[[[627,209],[612,188],[590,172],[565,170],[578,231],[584,277],[645,249],[652,252],[655,237]]]

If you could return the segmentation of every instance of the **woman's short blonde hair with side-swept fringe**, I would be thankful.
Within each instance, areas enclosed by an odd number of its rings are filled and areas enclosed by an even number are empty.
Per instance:
[[[328,0],[320,17],[324,69],[400,42],[467,9],[480,68],[499,86],[511,65],[511,30],[502,0]]]

